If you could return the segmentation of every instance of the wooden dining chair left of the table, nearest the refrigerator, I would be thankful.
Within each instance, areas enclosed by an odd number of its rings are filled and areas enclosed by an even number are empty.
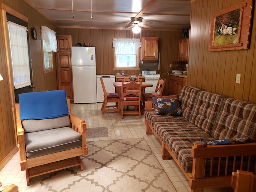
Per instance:
[[[111,111],[119,111],[118,110],[118,103],[119,103],[119,94],[118,93],[108,93],[106,92],[106,88],[104,86],[103,79],[100,78],[100,82],[102,85],[103,93],[104,93],[104,100],[101,107],[102,114],[105,112],[111,112]],[[108,103],[116,103],[116,105],[107,105]]]

